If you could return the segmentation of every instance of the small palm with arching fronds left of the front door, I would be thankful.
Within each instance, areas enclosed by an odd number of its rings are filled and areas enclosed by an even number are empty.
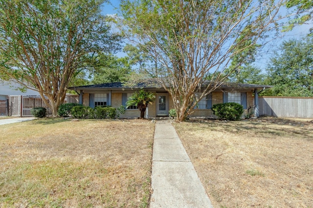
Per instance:
[[[140,118],[144,118],[145,111],[148,104],[156,99],[156,96],[153,93],[140,90],[139,93],[135,92],[131,97],[128,98],[126,102],[126,107],[136,106],[140,111]]]

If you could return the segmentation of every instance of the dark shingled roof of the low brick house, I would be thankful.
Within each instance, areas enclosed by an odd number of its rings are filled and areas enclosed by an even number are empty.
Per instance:
[[[202,86],[205,87],[210,83],[210,81],[204,81]],[[212,84],[213,86],[213,84]],[[242,84],[242,83],[223,83],[219,88],[220,89],[266,89],[271,88],[273,86],[270,85],[258,85],[258,84]],[[160,85],[156,83],[138,83],[135,86],[124,86],[122,82],[112,82],[112,83],[104,83],[104,84],[93,84],[93,85],[85,85],[78,87],[69,87],[70,90],[87,90],[87,89],[134,89],[134,88],[162,88]]]

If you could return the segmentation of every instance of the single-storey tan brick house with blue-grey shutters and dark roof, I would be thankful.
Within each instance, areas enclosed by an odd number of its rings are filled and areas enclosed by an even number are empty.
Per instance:
[[[268,85],[255,84],[224,84],[205,98],[203,98],[194,109],[191,117],[214,117],[212,105],[225,102],[236,102],[243,105],[245,113],[247,109],[255,105],[255,116],[258,113],[258,91],[270,88]],[[147,90],[156,94],[156,101],[149,105],[145,117],[168,116],[168,111],[174,108],[172,97],[162,87],[149,87],[138,84],[136,87],[125,87],[121,82],[95,84],[79,87],[70,87],[79,94],[79,103],[90,106],[91,108],[110,105],[118,108],[125,106],[126,101],[135,91],[140,89]],[[254,98],[252,94],[254,93]],[[252,110],[252,109],[250,109]],[[127,108],[124,117],[139,117],[140,112],[135,106]]]

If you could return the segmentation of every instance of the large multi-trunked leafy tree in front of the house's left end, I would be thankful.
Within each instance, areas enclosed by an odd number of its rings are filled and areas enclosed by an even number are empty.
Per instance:
[[[52,110],[92,56],[119,48],[104,0],[0,0],[0,74],[36,90]]]

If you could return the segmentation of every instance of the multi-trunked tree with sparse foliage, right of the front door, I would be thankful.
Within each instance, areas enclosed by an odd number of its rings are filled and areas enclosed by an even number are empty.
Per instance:
[[[183,121],[227,79],[223,72],[233,57],[244,55],[236,65],[240,66],[249,58],[244,52],[263,45],[268,33],[277,29],[275,18],[282,4],[283,0],[122,0],[121,21],[124,33],[156,60],[158,69],[147,73],[171,95],[177,119]]]

